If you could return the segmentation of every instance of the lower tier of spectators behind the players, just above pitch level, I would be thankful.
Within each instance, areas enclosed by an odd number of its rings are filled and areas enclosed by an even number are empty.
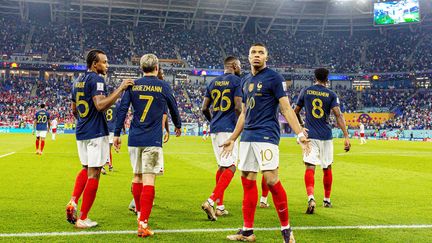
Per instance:
[[[107,81],[108,87],[116,86]],[[205,84],[198,80],[182,80],[173,86],[182,121],[203,124],[201,104],[205,95]],[[70,111],[72,79],[69,77],[40,80],[12,76],[0,79],[0,126],[32,124],[35,112],[41,103],[46,104],[52,117],[59,123],[74,123]],[[109,88],[112,90],[112,88]],[[346,87],[336,86],[341,110],[351,113],[361,108],[387,107],[395,117],[383,124],[366,124],[368,129],[432,129],[432,92],[413,89],[368,89],[360,94]],[[286,91],[294,106],[301,91],[289,87]]]

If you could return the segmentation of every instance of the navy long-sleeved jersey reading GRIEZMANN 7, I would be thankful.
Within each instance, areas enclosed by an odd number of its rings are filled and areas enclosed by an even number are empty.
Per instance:
[[[157,77],[146,76],[135,80],[135,84],[123,94],[120,108],[117,111],[115,136],[120,136],[131,104],[133,117],[129,129],[128,146],[162,147],[162,116],[166,106],[168,106],[174,126],[181,128],[177,102],[169,84]]]

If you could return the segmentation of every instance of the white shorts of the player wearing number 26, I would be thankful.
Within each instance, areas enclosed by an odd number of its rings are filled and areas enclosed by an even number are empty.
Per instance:
[[[238,141],[234,142],[234,149],[231,156],[229,156],[228,158],[223,158],[221,156],[222,148],[219,147],[231,136],[231,134],[232,133],[230,132],[219,132],[210,134],[213,144],[213,151],[215,153],[217,163],[221,167],[230,167],[231,165],[235,165],[237,163]]]

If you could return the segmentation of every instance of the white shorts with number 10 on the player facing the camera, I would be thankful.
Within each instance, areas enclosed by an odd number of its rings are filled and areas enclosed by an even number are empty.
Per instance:
[[[258,172],[275,170],[279,167],[279,146],[263,142],[240,142],[241,171]]]

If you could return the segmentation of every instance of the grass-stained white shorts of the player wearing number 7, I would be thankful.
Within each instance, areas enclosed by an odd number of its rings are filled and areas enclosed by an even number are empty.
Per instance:
[[[161,147],[128,147],[134,174],[163,175],[164,160]]]

